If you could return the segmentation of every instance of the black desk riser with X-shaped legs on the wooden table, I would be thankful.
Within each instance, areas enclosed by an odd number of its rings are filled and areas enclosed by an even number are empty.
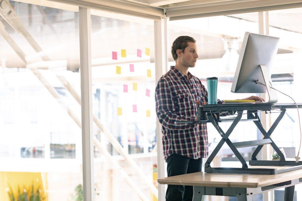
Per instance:
[[[302,108],[302,103],[298,103],[298,108]],[[237,173],[237,174],[278,174],[282,172],[293,171],[297,169],[302,169],[302,161],[296,163],[296,161],[286,161],[283,153],[271,139],[271,134],[283,118],[286,109],[297,108],[295,104],[292,103],[249,103],[249,104],[217,104],[217,105],[200,105],[201,110],[207,112],[207,121],[175,121],[175,124],[204,124],[212,123],[215,129],[221,136],[221,140],[218,145],[215,147],[213,152],[207,159],[207,162],[204,164],[204,171],[208,173]],[[258,117],[257,111],[271,111],[274,109],[280,110],[280,114],[275,122],[272,124],[268,132],[263,128],[260,118]],[[220,118],[219,114],[225,111],[237,112],[237,117],[234,119],[223,120]],[[247,111],[247,119],[241,119],[243,111]],[[217,115],[215,118],[214,114]],[[239,121],[253,121],[260,132],[263,134],[262,140],[252,140],[244,142],[232,143],[229,139],[230,134],[236,127]],[[233,122],[229,129],[224,133],[221,127],[219,126],[220,122]],[[236,155],[237,159],[242,164],[242,168],[223,168],[223,167],[211,167],[210,163],[213,161],[214,157],[217,155],[218,151],[221,149],[223,144],[226,143],[233,153]],[[271,161],[271,160],[257,160],[256,155],[260,152],[263,145],[270,144],[275,151],[280,156],[280,161]],[[257,146],[255,151],[252,154],[252,159],[249,161],[249,165],[259,165],[259,166],[289,166],[289,168],[278,170],[277,168],[249,168],[246,164],[246,161],[239,153],[237,148],[248,147],[248,146]]]

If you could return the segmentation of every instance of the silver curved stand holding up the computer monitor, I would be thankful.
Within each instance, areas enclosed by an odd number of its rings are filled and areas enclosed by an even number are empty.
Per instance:
[[[264,80],[264,84],[262,84],[262,85],[264,85],[266,87],[266,91],[268,94],[268,101],[265,103],[276,103],[276,102],[278,102],[278,97],[277,97],[275,90],[271,89],[271,87],[273,87],[273,82],[271,81],[271,78],[268,74],[267,67],[265,65],[259,65],[259,66],[260,66],[261,73],[262,73],[263,80]],[[257,81],[256,81],[256,84],[259,84],[259,83],[257,83]]]

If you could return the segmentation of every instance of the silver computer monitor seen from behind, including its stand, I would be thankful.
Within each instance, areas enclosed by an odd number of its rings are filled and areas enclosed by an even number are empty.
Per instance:
[[[269,100],[278,101],[277,94],[271,90],[271,72],[277,54],[279,38],[246,32],[243,38],[231,92],[266,93]],[[257,84],[256,81],[264,85]]]

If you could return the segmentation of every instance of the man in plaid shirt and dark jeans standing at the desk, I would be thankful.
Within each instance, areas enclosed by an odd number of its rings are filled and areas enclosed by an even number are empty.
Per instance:
[[[174,124],[175,121],[196,121],[195,101],[207,102],[206,88],[188,71],[195,67],[198,58],[195,43],[190,36],[175,39],[171,48],[175,66],[159,79],[155,90],[168,177],[201,171],[202,158],[208,155],[207,124]],[[258,96],[246,100],[264,101]],[[217,103],[223,101],[218,99]],[[168,185],[165,198],[167,201],[192,200],[193,187]]]

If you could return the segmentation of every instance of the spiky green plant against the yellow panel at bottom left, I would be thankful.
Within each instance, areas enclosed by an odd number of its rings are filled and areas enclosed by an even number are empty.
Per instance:
[[[34,190],[34,184],[31,186],[31,190],[24,190],[21,192],[20,186],[18,186],[18,195],[17,197],[14,197],[14,192],[9,185],[9,191],[8,191],[8,196],[10,201],[43,201],[45,198],[40,194],[40,186],[37,188],[37,190]]]

